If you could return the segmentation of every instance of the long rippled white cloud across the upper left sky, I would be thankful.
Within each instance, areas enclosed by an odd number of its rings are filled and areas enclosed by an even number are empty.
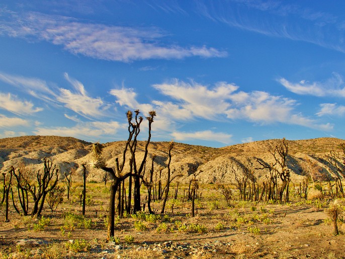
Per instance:
[[[1,18],[1,16],[0,16]],[[145,59],[182,59],[192,56],[224,57],[225,51],[212,47],[166,45],[166,34],[156,28],[129,28],[82,23],[63,16],[41,13],[8,13],[0,21],[0,34],[45,40],[61,45],[73,54],[97,59],[129,62]]]

